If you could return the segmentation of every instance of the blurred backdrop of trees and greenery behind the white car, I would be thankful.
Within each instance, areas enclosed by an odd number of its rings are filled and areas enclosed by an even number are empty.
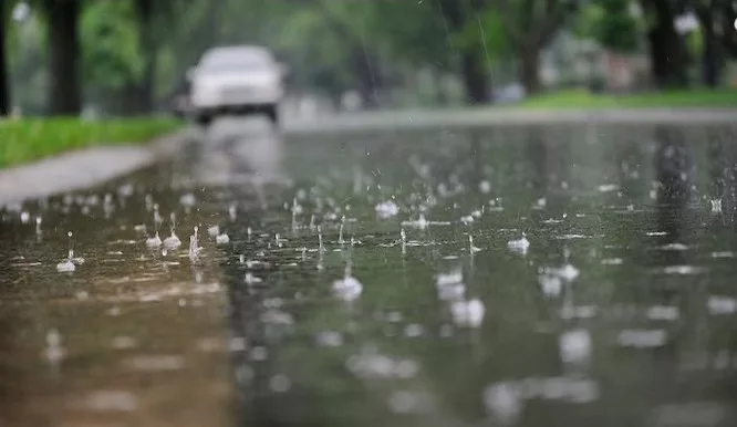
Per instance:
[[[289,64],[294,115],[541,93],[693,102],[737,84],[731,0],[2,0],[2,115],[168,112],[222,44]]]

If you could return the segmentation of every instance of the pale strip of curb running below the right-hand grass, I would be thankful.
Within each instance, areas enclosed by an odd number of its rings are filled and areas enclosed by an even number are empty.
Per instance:
[[[737,124],[737,110],[630,108],[527,110],[474,108],[449,111],[378,111],[286,117],[286,133],[361,132],[372,129],[455,128],[546,124]]]

